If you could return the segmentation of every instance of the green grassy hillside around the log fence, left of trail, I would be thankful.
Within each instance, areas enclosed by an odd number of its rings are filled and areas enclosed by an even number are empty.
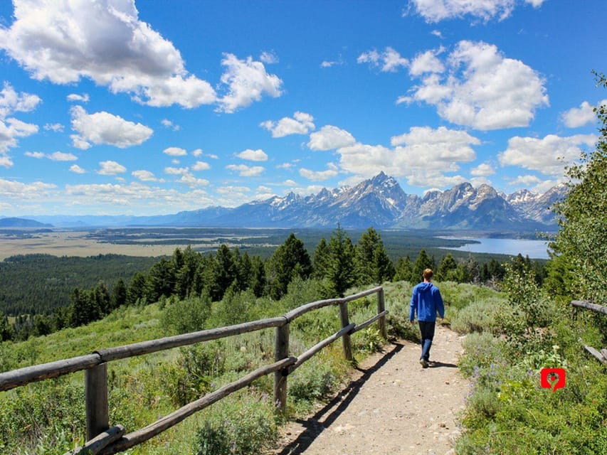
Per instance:
[[[386,284],[385,289],[391,336],[416,338],[416,330],[408,324],[411,284]],[[471,285],[445,283],[441,289],[449,306],[448,315],[455,314],[469,301],[499,299],[495,291]],[[296,280],[278,302],[255,299],[244,292],[228,295],[213,304],[202,299],[169,299],[143,307],[120,308],[85,327],[30,338],[23,343],[0,344],[0,370],[182,331],[277,316],[321,297],[319,282]],[[376,301],[369,297],[352,302],[349,307],[351,321],[360,323],[374,314]],[[338,328],[337,307],[302,316],[291,326],[292,353],[302,353]],[[381,347],[381,337],[374,327],[355,334],[352,341],[357,359]],[[273,330],[266,330],[112,362],[108,365],[110,421],[125,425],[127,431],[143,427],[247,371],[270,363],[273,343]],[[317,400],[340,387],[349,368],[343,359],[341,343],[334,343],[296,370],[289,378],[290,416],[310,412]],[[64,454],[74,444],[81,444],[85,429],[83,384],[83,373],[75,373],[0,393],[2,453]],[[272,396],[273,378],[258,380],[247,390],[199,412],[132,453],[261,453],[263,447],[272,444],[280,424],[273,416]],[[235,452],[229,451],[234,447]]]

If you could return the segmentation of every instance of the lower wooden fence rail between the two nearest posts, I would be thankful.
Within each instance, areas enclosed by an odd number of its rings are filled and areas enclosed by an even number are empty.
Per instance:
[[[208,395],[196,400],[194,402],[189,403],[189,405],[185,405],[184,407],[179,408],[175,412],[171,412],[171,414],[162,417],[162,419],[157,420],[151,425],[144,427],[142,429],[137,430],[136,432],[132,432],[126,434],[124,437],[116,441],[114,444],[107,446],[105,449],[99,452],[100,455],[110,455],[117,454],[120,451],[125,451],[132,446],[136,446],[137,444],[141,444],[144,441],[156,436],[164,432],[164,430],[173,427],[178,424],[186,417],[191,416],[197,411],[204,410],[205,407],[212,405],[214,402],[221,400],[224,397],[227,397],[236,390],[240,390],[243,387],[246,387],[251,382],[256,379],[261,378],[262,376],[269,375],[270,373],[274,373],[278,370],[284,370],[288,368],[290,365],[293,365],[297,359],[289,357],[278,362],[272,363],[271,365],[265,365],[263,367],[258,368],[257,370],[253,370],[248,375],[243,378],[236,380],[234,382],[230,382],[228,385],[224,385],[219,388],[215,392],[211,392]]]

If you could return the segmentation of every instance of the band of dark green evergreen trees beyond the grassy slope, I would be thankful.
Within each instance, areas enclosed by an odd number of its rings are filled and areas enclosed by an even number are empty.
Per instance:
[[[99,264],[117,270],[115,262],[127,262],[125,257],[108,256],[100,257]],[[132,259],[128,258],[131,264]],[[517,259],[521,267],[534,267],[537,277],[542,279],[542,264],[521,255]],[[36,256],[22,260],[36,264]],[[101,319],[119,306],[145,305],[171,296],[185,299],[204,294],[212,301],[219,301],[228,289],[233,292],[250,289],[255,296],[280,299],[295,277],[314,277],[324,282],[327,297],[334,297],[344,295],[354,285],[381,284],[389,280],[415,283],[421,279],[426,267],[436,270],[438,281],[473,282],[492,287],[497,287],[505,272],[495,259],[480,264],[472,257],[456,260],[450,253],[437,263],[436,258],[424,249],[414,260],[408,256],[399,257],[393,264],[381,235],[374,228],[366,230],[354,244],[338,226],[328,240],[322,237],[312,256],[293,233],[265,260],[226,245],[206,255],[191,247],[176,248],[171,257],[153,259],[147,272],[134,272],[128,282],[122,278],[126,272],[123,266],[122,276],[113,281],[111,289],[104,280],[88,289],[73,287],[65,304],[56,304],[51,309],[47,306],[43,311],[31,309],[11,319],[7,316],[11,307],[5,307],[9,311],[5,309],[6,314],[0,313],[0,340],[24,340],[64,327],[81,326]],[[44,273],[44,270],[38,272]],[[38,282],[45,283],[44,280]]]

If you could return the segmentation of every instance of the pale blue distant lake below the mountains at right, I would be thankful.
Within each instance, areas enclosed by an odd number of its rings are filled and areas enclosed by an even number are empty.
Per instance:
[[[529,259],[548,259],[548,242],[546,240],[528,239],[491,239],[482,237],[440,237],[455,240],[470,240],[478,243],[467,243],[462,247],[445,247],[446,250],[468,251],[471,253],[495,253],[498,255],[516,256],[519,253]]]

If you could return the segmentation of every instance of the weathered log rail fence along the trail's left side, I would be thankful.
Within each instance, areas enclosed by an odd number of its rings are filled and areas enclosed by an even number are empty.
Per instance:
[[[350,323],[348,314],[348,302],[361,299],[371,294],[377,294],[377,314],[371,319],[360,323]],[[301,353],[297,358],[290,356],[289,336],[290,323],[309,311],[321,309],[325,306],[339,305],[339,317],[342,328],[332,336],[325,338],[312,348]],[[132,446],[142,444],[173,427],[186,417],[195,412],[203,410],[214,402],[227,397],[233,392],[250,385],[254,380],[265,375],[274,373],[274,402],[277,412],[284,413],[287,402],[287,378],[292,371],[300,367],[322,348],[342,338],[344,357],[353,360],[350,336],[357,331],[366,328],[371,323],[377,322],[379,331],[384,339],[386,333],[386,314],[384,289],[374,287],[366,291],[346,296],[341,299],[327,299],[315,301],[299,306],[283,316],[269,319],[260,319],[233,326],[211,328],[209,330],[185,333],[184,335],[168,336],[157,340],[142,341],[115,348],[96,350],[92,354],[80,355],[79,357],[57,360],[56,362],[33,365],[20,368],[6,373],[0,373],[0,392],[11,390],[31,382],[56,378],[76,371],[85,370],[85,400],[86,400],[86,439],[83,447],[68,452],[68,454],[110,455],[125,451]],[[154,353],[159,350],[167,350],[181,346],[189,346],[194,343],[226,338],[241,333],[262,330],[264,328],[275,328],[275,350],[274,363],[264,365],[251,371],[248,375],[218,390],[179,408],[171,414],[162,417],[147,427],[125,434],[125,428],[117,424],[110,427],[109,403],[107,398],[107,363],[113,360],[130,358],[136,355]],[[68,455],[66,454],[66,455]]]

